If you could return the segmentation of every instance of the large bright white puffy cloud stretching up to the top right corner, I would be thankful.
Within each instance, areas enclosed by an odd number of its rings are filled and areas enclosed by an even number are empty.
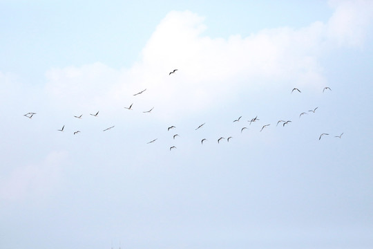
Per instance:
[[[142,109],[156,106],[164,117],[213,107],[222,96],[233,98],[227,96],[262,84],[321,87],[326,82],[318,62],[323,53],[335,46],[361,46],[372,20],[370,1],[330,4],[336,10],[326,24],[316,21],[298,30],[271,28],[228,39],[203,35],[204,19],[194,13],[172,11],[131,68],[95,63],[53,69],[46,74],[46,89],[72,107],[140,102]],[[174,68],[179,71],[169,75]],[[146,98],[133,97],[143,89],[148,89]]]

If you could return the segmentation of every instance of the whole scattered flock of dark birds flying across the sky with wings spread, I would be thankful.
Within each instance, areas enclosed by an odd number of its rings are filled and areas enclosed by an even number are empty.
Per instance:
[[[173,69],[173,71],[171,71],[169,73],[169,75],[175,73],[176,71],[178,71],[178,69]],[[326,86],[324,89],[323,89],[323,93],[325,92],[325,90],[327,91],[332,91],[332,89],[329,88],[329,86]],[[133,96],[136,96],[136,95],[140,95],[142,93],[144,93],[146,91],[146,89],[140,91],[140,92],[137,92],[135,94],[133,94]],[[294,88],[291,90],[291,93],[293,93],[294,91],[298,92],[298,93],[301,93],[301,91],[298,89],[298,88]],[[133,103],[129,105],[129,107],[124,107],[124,109],[128,109],[128,110],[132,110],[132,107],[133,107]],[[148,111],[142,111],[142,113],[151,113],[151,111],[154,109],[154,107],[152,107],[151,109],[149,109]],[[318,109],[318,107],[314,108],[314,109],[311,109],[309,110],[308,112],[312,112],[312,113],[315,113],[316,110]],[[24,114],[23,116],[27,117],[27,118],[32,118],[33,116],[35,116],[37,113],[35,112],[28,112],[26,114]],[[299,118],[301,118],[303,115],[307,115],[308,113],[307,112],[303,112],[303,113],[300,113],[299,115]],[[99,111],[97,111],[96,113],[90,113],[90,116],[93,116],[93,117],[97,117],[99,115]],[[83,114],[81,114],[80,116],[74,116],[74,118],[77,118],[77,119],[82,119],[82,116]],[[233,120],[233,123],[235,122],[240,122],[242,116],[240,116],[239,118],[237,118],[236,120]],[[249,125],[251,125],[251,123],[253,122],[256,122],[258,121],[258,116],[256,116],[255,118],[251,118],[250,120],[247,120],[247,122],[249,122]],[[276,123],[276,126],[278,126],[278,124],[283,124],[283,127],[285,127],[285,125],[289,124],[291,122],[291,120],[278,120],[278,122]],[[204,127],[204,124],[206,123],[203,123],[203,124],[200,124],[198,127],[195,128],[195,130],[198,130],[198,129],[201,129],[202,127]],[[266,127],[269,127],[271,124],[264,124],[262,126],[262,128],[260,129],[260,132],[263,131]],[[103,129],[102,131],[108,131],[110,129],[113,129],[115,126],[112,126],[112,127],[108,127],[106,129]],[[65,128],[65,125],[63,125],[61,127],[61,129],[57,129],[57,131],[61,131],[61,132],[64,132],[64,128]],[[176,127],[171,125],[171,127],[168,127],[167,128],[167,131],[170,131],[170,130],[173,130],[175,129]],[[248,129],[248,127],[242,127],[241,129],[241,133],[243,131],[245,131],[245,129]],[[74,131],[73,134],[74,135],[77,135],[78,133],[80,133],[81,131]],[[338,136],[334,136],[334,138],[342,138],[342,135],[343,133],[341,133],[340,135]],[[175,138],[177,138],[179,136],[178,133],[175,133],[173,135],[173,140],[175,140]],[[321,140],[321,138],[323,138],[323,136],[329,136],[329,133],[321,133],[321,135],[318,137],[318,140]],[[229,136],[228,138],[224,138],[224,137],[220,137],[218,138],[217,142],[220,143],[221,140],[227,140],[227,142],[229,142],[229,140],[231,139],[232,137]],[[157,138],[153,139],[153,140],[150,140],[149,142],[147,142],[147,144],[151,144],[153,142],[157,141]],[[202,140],[200,140],[201,142],[201,145],[204,144],[204,142],[207,142],[207,138],[202,138]],[[169,147],[169,150],[173,150],[173,149],[177,149],[177,147],[175,147],[175,145]]]

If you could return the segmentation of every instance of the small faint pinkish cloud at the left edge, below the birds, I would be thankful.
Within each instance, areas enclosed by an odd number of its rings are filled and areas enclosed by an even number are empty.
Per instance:
[[[61,181],[61,165],[66,156],[66,152],[54,151],[40,163],[17,167],[8,176],[3,176],[0,199],[20,201],[50,194]]]

